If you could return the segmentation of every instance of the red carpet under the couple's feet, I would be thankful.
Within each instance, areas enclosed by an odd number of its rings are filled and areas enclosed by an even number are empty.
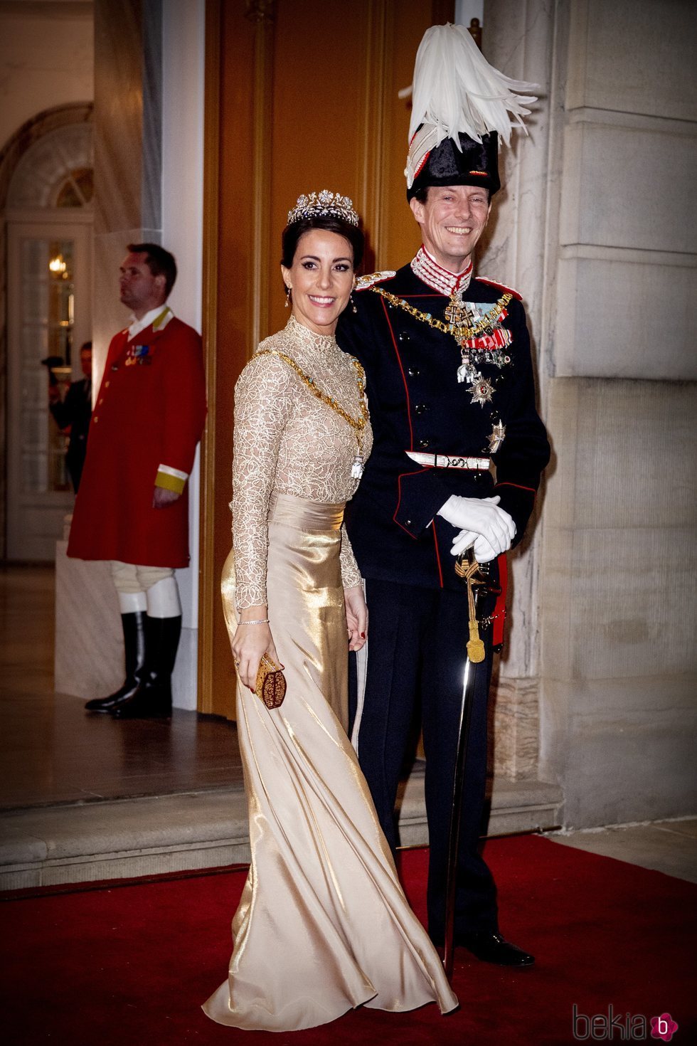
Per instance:
[[[461,1008],[449,1017],[434,1005],[403,1015],[359,1009],[321,1028],[280,1034],[212,1024],[199,1007],[226,975],[230,920],[245,879],[236,871],[0,904],[2,1041],[560,1046],[577,1041],[576,1004],[579,1015],[603,1017],[594,1041],[660,1042],[650,1036],[650,1019],[669,1013],[679,1025],[674,1046],[697,1042],[697,887],[532,836],[493,840],[486,854],[498,883],[502,929],[537,964],[511,973],[459,951]],[[427,851],[412,850],[402,862],[422,918],[426,860]],[[270,977],[275,963],[293,961],[269,958]],[[610,1005],[621,1018],[612,1033],[603,1032]],[[647,1037],[637,1034],[642,1017]],[[591,1038],[581,1018],[577,1031]]]

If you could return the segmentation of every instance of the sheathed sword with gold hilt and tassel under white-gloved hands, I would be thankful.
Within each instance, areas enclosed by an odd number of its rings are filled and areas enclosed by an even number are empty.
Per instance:
[[[472,718],[472,699],[474,689],[474,665],[484,661],[484,643],[480,638],[477,621],[477,601],[480,592],[495,591],[487,583],[488,567],[481,566],[474,559],[472,548],[465,549],[456,560],[455,571],[467,585],[467,601],[469,607],[469,641],[465,659],[465,670],[462,681],[462,701],[458,723],[458,748],[452,778],[452,801],[450,804],[450,826],[448,833],[447,872],[445,879],[445,934],[443,965],[448,978],[452,977],[455,960],[455,903],[458,874],[458,849],[460,844],[460,818],[462,813],[462,795],[465,781],[465,761],[469,743],[469,727]]]

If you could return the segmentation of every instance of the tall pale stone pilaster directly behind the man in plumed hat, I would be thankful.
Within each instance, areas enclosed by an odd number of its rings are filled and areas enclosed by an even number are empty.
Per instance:
[[[489,62],[515,79],[540,85],[539,101],[527,120],[529,135],[514,132],[501,149],[502,189],[480,250],[478,271],[520,292],[528,313],[540,397],[543,396],[545,296],[545,207],[550,133],[550,82],[554,4],[487,0],[483,50]],[[543,413],[543,411],[542,411]],[[539,638],[539,515],[544,486],[521,545],[509,556],[509,617],[494,711],[494,766],[518,778],[537,775]]]

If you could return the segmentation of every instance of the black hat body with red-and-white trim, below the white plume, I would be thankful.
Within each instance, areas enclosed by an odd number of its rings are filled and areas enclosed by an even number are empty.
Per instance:
[[[496,132],[482,135],[482,141],[475,141],[461,132],[460,149],[451,138],[444,138],[440,145],[426,154],[406,189],[406,199],[411,200],[419,189],[428,185],[481,185],[493,196],[501,188]]]

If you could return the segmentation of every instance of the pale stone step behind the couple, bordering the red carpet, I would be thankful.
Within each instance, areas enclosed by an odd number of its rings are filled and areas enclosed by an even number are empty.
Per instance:
[[[561,799],[555,784],[496,778],[489,835],[557,825]],[[427,842],[422,765],[402,789],[399,823],[402,845]],[[215,868],[249,859],[240,787],[0,816],[2,890]]]

